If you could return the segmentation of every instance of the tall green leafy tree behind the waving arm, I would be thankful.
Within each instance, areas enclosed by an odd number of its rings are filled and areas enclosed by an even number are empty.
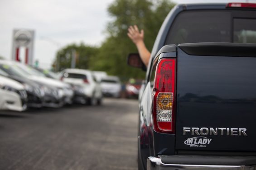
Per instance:
[[[144,71],[126,64],[127,55],[137,52],[127,37],[127,28],[136,24],[144,29],[145,44],[151,51],[161,24],[173,7],[174,3],[169,0],[115,0],[108,7],[113,18],[106,29],[108,37],[99,49],[97,61],[89,68],[105,70],[121,78],[144,78]]]

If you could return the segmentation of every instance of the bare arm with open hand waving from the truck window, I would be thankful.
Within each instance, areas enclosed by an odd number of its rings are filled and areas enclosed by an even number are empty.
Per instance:
[[[140,54],[140,58],[142,62],[147,66],[150,60],[150,52],[148,51],[144,43],[144,31],[143,30],[140,31],[138,27],[134,25],[128,28],[127,35],[128,37],[130,37],[133,43],[137,46],[137,49]]]

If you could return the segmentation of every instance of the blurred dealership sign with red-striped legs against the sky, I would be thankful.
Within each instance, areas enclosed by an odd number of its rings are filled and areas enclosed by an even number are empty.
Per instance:
[[[14,29],[12,60],[20,61],[19,49],[25,47],[25,64],[33,64],[34,31]]]

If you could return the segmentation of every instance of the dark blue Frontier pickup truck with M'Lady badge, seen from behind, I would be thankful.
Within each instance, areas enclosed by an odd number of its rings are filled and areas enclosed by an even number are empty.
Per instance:
[[[253,43],[255,4],[171,10],[139,96],[139,170],[256,170]]]

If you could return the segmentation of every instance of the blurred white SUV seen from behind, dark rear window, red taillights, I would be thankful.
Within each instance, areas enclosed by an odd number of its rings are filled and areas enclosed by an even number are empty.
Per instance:
[[[61,72],[61,80],[83,88],[83,96],[78,100],[85,100],[89,105],[100,105],[102,100],[101,85],[92,71],[85,69],[65,69]]]

